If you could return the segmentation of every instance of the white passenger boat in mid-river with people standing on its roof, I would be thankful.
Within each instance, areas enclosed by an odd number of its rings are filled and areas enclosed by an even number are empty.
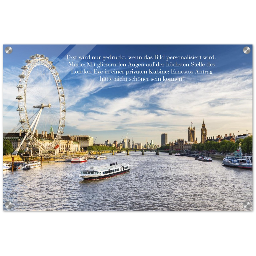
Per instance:
[[[126,173],[130,170],[129,164],[105,164],[100,166],[88,167],[81,170],[79,176],[84,180],[91,179],[104,179],[112,176],[116,176],[122,173]]]

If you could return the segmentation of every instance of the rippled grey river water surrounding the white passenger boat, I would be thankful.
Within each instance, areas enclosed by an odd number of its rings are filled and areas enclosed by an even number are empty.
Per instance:
[[[3,171],[3,210],[61,211],[252,211],[252,170],[196,161],[167,153],[106,154],[86,163],[43,163],[30,170]],[[128,163],[130,172],[85,181],[80,170]],[[13,207],[5,208],[11,201]],[[249,209],[243,203],[249,201]]]

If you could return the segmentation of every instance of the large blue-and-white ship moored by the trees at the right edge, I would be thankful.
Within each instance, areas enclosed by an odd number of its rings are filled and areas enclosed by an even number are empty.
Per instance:
[[[222,164],[230,167],[252,169],[252,160],[250,158],[246,159],[242,157],[242,149],[240,144],[239,149],[234,152],[233,156],[226,155],[226,157],[223,158]]]

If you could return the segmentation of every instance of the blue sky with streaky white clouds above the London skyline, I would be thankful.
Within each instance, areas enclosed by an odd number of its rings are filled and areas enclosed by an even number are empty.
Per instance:
[[[13,52],[5,53],[11,46]],[[243,53],[249,46],[251,52]],[[160,144],[162,133],[168,141],[187,139],[188,126],[193,122],[200,142],[203,120],[207,136],[234,133],[252,133],[252,45],[3,45],[3,131],[15,132],[19,127],[18,95],[16,85],[21,66],[30,55],[44,54],[53,61],[65,92],[65,134],[97,137],[95,143],[121,140],[128,137],[135,143],[145,144],[154,140]],[[68,62],[87,63],[93,60],[68,60],[70,56],[215,56],[210,60],[215,67],[172,67],[177,71],[211,70],[209,74],[168,74],[168,77],[184,77],[184,81],[118,82],[100,81],[93,74],[71,74],[71,69],[92,70],[88,67],[69,67]],[[78,58],[78,57],[77,57]],[[132,60],[133,63],[166,63],[166,60]],[[204,60],[168,60],[167,62],[198,63]],[[99,60],[94,60],[98,63]],[[106,60],[104,63],[116,63]],[[150,67],[170,70],[167,67]],[[95,68],[97,69],[97,67]],[[146,70],[149,67],[106,67],[101,70]],[[98,69],[99,70],[99,69]],[[32,72],[31,72],[32,73]],[[106,76],[106,75],[102,75]],[[109,75],[110,76],[110,75]],[[111,75],[112,78],[120,75]],[[130,75],[153,78],[156,75]],[[163,77],[163,75],[158,75]],[[44,93],[42,91],[40,93]],[[57,93],[54,91],[54,94]],[[52,95],[52,100],[54,99]],[[45,102],[44,102],[45,103]],[[31,104],[34,104],[31,99]],[[41,103],[40,103],[41,104]],[[52,121],[54,122],[54,121]],[[42,128],[43,129],[43,128]],[[47,130],[47,127],[45,127]],[[49,129],[48,129],[49,130]],[[238,132],[239,131],[239,132]]]

